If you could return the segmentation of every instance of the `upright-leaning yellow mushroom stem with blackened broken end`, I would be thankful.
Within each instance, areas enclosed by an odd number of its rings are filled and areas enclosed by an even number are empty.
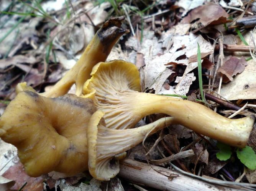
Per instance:
[[[76,95],[82,93],[82,86],[90,78],[92,67],[104,62],[117,40],[128,30],[121,28],[124,16],[110,18],[100,28],[87,45],[77,63],[49,91],[42,93],[45,97],[59,97],[66,94],[76,84]]]

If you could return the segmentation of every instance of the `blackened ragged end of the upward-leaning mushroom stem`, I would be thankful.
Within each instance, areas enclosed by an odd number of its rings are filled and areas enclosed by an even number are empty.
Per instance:
[[[125,16],[120,16],[120,17],[112,17],[108,21],[106,21],[103,26],[100,28],[100,30],[97,32],[97,35],[100,39],[100,42],[105,45],[105,44],[112,44],[117,41],[117,39],[129,32],[127,29],[123,29],[121,27],[122,21],[125,19]],[[106,54],[109,54],[109,46],[103,46]]]

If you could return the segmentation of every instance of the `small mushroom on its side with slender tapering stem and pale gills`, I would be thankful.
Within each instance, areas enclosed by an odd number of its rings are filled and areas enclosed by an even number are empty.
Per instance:
[[[135,147],[146,134],[175,123],[173,117],[166,117],[134,129],[109,129],[105,127],[103,115],[101,110],[95,112],[87,129],[89,171],[98,180],[110,180],[117,175],[119,163],[115,155]]]

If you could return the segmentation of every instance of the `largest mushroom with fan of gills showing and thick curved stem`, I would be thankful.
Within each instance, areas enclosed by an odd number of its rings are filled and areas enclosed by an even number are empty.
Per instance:
[[[139,92],[139,71],[132,63],[98,63],[84,84],[84,97],[94,99],[107,128],[132,128],[144,116],[164,113],[193,131],[236,147],[245,147],[254,118],[228,119],[188,100]]]

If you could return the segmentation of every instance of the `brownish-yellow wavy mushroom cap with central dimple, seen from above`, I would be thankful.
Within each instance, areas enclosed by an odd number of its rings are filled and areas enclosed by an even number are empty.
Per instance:
[[[17,147],[28,175],[74,175],[88,169],[86,129],[95,111],[91,99],[22,91],[0,117],[0,137]]]

